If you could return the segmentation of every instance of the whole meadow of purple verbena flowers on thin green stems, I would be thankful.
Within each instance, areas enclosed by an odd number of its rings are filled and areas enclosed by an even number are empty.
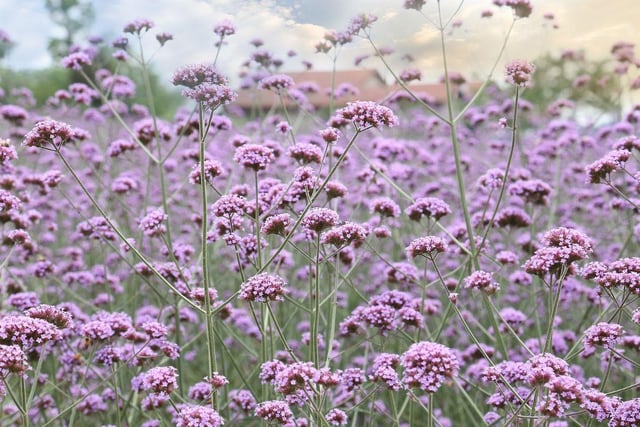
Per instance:
[[[533,6],[494,9],[510,34]],[[534,105],[533,58],[453,96],[440,18],[444,104],[389,67],[396,96],[314,109],[255,41],[245,86],[277,102],[243,111],[227,21],[170,119],[91,46],[43,108],[3,87],[0,425],[640,425],[640,105]],[[317,49],[386,65],[375,22]],[[118,64],[146,75],[154,31],[129,23]],[[640,59],[611,52],[625,81]]]

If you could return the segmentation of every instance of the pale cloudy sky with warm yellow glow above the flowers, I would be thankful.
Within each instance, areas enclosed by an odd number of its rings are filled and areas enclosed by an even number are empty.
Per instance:
[[[601,59],[611,45],[624,40],[640,42],[637,29],[640,22],[638,0],[531,0],[534,12],[519,20],[508,41],[503,60],[527,59],[565,49],[584,50],[587,57]],[[448,19],[460,4],[443,0]],[[17,43],[1,65],[13,68],[37,68],[50,65],[46,51],[47,39],[57,34],[43,7],[44,0],[1,0],[0,29]],[[169,32],[168,42],[153,58],[154,67],[168,79],[173,71],[195,62],[212,61],[215,55],[213,26],[223,18],[230,19],[237,33],[228,39],[219,59],[219,67],[230,77],[237,75],[241,64],[253,50],[249,42],[264,40],[264,48],[285,60],[283,71],[302,69],[308,60],[315,69],[330,69],[329,56],[315,53],[315,44],[327,30],[344,30],[351,17],[361,12],[372,13],[379,20],[372,38],[381,47],[395,53],[389,57],[400,71],[408,65],[400,58],[411,54],[424,81],[435,81],[442,75],[439,33],[430,21],[437,18],[437,2],[427,0],[423,14],[402,8],[403,0],[109,0],[92,2],[96,20],[91,34],[102,35],[107,41],[119,36],[123,26],[136,19],[147,18],[155,27],[144,39],[145,51],[157,48],[157,32]],[[491,10],[491,18],[481,18],[482,11]],[[552,20],[545,14],[553,14]],[[507,8],[498,8],[491,0],[466,0],[453,18],[456,24],[447,35],[450,69],[467,77],[485,77],[512,20]],[[557,26],[557,28],[554,28]],[[287,58],[287,51],[298,55]],[[338,67],[354,68],[354,58],[371,53],[364,40],[343,47]],[[378,68],[380,62],[370,58],[361,67]],[[497,73],[501,73],[501,68]],[[388,74],[387,74],[388,77]]]

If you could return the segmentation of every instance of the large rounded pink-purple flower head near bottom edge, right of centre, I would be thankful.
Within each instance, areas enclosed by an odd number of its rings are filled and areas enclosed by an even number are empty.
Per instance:
[[[404,367],[402,382],[427,393],[435,393],[459,368],[451,349],[429,341],[412,344],[401,356],[400,364]]]

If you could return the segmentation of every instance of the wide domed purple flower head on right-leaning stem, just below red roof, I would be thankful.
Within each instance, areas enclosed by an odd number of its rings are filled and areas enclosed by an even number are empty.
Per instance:
[[[352,122],[359,131],[372,127],[394,127],[399,124],[398,118],[389,107],[373,101],[348,102],[346,107],[338,109],[329,119],[328,126],[340,128]]]

